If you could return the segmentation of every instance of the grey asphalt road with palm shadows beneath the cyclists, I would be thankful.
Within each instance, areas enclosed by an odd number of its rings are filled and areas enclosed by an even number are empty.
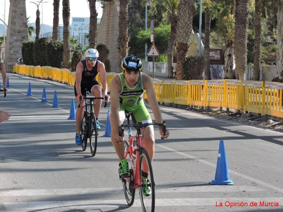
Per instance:
[[[12,114],[0,125],[0,211],[142,211],[138,191],[127,206],[118,158],[110,138],[101,137],[108,108],[101,108],[97,153],[91,157],[89,146],[82,151],[75,144],[75,120],[67,119],[72,86],[8,76],[11,88],[5,98],[0,93],[0,108]],[[26,96],[29,82],[33,96]],[[43,87],[47,103],[40,102]],[[51,108],[55,90],[59,108]],[[161,140],[155,131],[155,211],[283,211],[283,133],[160,109],[170,137]],[[210,184],[220,140],[234,185]],[[231,206],[237,203],[247,206]]]

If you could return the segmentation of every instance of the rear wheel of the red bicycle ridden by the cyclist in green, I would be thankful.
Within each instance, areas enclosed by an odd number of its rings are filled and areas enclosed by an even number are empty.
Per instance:
[[[124,141],[124,154],[126,154],[126,151],[129,147],[129,141],[125,140]],[[128,161],[129,167],[130,167],[130,154],[127,155],[126,160]],[[134,200],[135,200],[135,192],[136,189],[133,189],[132,182],[133,182],[133,170],[130,169],[131,177],[122,179],[123,183],[123,189],[124,189],[124,194],[126,197],[126,201],[129,206],[133,205]]]

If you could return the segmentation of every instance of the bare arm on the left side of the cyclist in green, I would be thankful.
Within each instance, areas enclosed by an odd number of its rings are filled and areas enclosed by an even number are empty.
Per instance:
[[[122,141],[122,137],[119,136],[118,127],[119,125],[119,109],[120,100],[119,93],[121,92],[121,81],[118,75],[116,75],[110,84],[110,98],[111,98],[111,129],[114,131],[114,139],[116,142]]]

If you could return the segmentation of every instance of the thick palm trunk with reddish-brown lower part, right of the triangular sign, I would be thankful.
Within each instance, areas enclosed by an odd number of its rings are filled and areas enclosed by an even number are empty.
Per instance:
[[[177,75],[178,80],[184,78],[183,65],[190,45],[191,32],[193,28],[193,17],[196,14],[194,0],[180,0],[178,5],[177,25]]]

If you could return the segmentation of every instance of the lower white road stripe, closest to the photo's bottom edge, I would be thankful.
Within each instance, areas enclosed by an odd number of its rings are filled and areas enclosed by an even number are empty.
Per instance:
[[[251,208],[251,202],[277,202],[279,207],[283,204],[283,197],[267,197],[267,198],[176,198],[176,199],[155,199],[155,206],[197,206],[197,205],[214,205],[216,202],[247,202],[247,208]],[[72,201],[40,201],[40,202],[5,202],[4,206],[7,210],[39,210],[39,209],[56,209],[56,208],[91,208],[91,210],[105,207],[128,207],[126,200],[72,200]],[[141,207],[140,201],[134,201],[131,207]],[[224,206],[225,207],[225,206]],[[230,207],[225,207],[230,208]],[[244,208],[244,207],[241,207]],[[270,207],[265,207],[270,209]],[[273,207],[275,208],[275,207]],[[276,207],[278,208],[278,207]]]

